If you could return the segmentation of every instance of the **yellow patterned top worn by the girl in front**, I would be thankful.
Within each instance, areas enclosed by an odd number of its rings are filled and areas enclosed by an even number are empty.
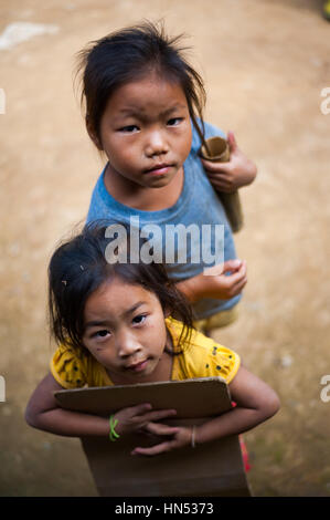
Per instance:
[[[175,351],[183,325],[173,318],[166,319],[166,323]],[[221,376],[228,384],[239,368],[238,354],[195,330],[179,350],[181,353],[173,355],[172,381]],[[51,372],[64,388],[114,384],[105,367],[83,346],[60,345],[51,361]]]

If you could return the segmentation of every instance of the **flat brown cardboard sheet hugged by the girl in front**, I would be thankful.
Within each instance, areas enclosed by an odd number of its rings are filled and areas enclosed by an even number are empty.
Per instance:
[[[177,417],[162,423],[178,426],[199,425],[232,408],[221,377],[77,388],[56,392],[55,397],[63,408],[104,416],[140,403],[151,403],[155,409],[175,408]],[[143,434],[116,443],[99,437],[81,440],[102,497],[251,496],[238,436],[155,457],[130,455],[137,446],[157,444]]]

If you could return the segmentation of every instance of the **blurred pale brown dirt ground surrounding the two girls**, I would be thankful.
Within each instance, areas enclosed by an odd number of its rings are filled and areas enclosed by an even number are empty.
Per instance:
[[[143,18],[187,32],[205,79],[206,121],[235,132],[258,165],[236,236],[248,284],[216,339],[278,392],[281,410],[245,435],[256,496],[330,496],[330,23],[315,0],[0,0],[14,21],[55,24],[0,51],[1,496],[96,495],[78,440],[28,427],[26,401],[53,351],[46,264],[84,220],[102,160],[73,93],[75,53]],[[329,106],[329,105],[328,105]]]

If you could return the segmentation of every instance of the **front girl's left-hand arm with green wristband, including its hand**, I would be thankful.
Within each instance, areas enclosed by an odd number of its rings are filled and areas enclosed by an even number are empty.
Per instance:
[[[26,406],[25,420],[30,426],[67,437],[109,435],[107,417],[61,408],[54,397],[54,392],[60,389],[63,387],[49,373],[33,392]],[[120,422],[121,435],[141,429],[150,420],[173,416],[175,410],[151,410],[149,404],[141,404],[124,408],[119,414],[123,419]]]

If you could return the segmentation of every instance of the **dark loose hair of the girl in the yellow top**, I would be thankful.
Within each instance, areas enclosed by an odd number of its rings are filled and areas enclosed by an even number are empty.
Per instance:
[[[85,226],[81,233],[62,243],[53,253],[49,266],[49,312],[52,335],[57,343],[82,346],[85,330],[84,310],[88,297],[104,282],[117,277],[126,283],[142,285],[155,293],[163,312],[170,311],[173,318],[183,323],[178,343],[180,352],[179,345],[182,341],[189,340],[193,327],[189,302],[169,280],[163,264],[153,261],[130,262],[130,239],[127,227],[127,262],[109,263],[106,248],[111,239],[105,238],[108,225],[99,220]],[[142,239],[140,239],[141,245]]]

